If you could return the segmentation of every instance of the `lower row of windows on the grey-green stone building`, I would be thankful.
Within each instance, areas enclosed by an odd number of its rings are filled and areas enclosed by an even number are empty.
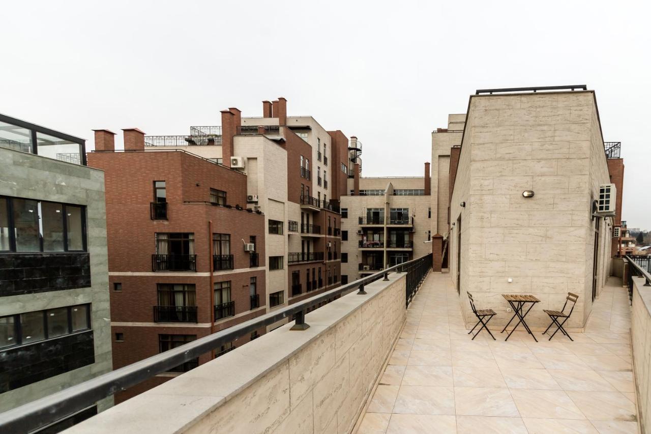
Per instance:
[[[0,317],[0,348],[90,330],[90,305],[78,304]]]

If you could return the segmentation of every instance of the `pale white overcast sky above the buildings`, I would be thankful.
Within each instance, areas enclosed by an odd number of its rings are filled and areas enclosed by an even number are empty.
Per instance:
[[[92,128],[186,134],[284,96],[289,115],[359,137],[365,176],[421,176],[430,133],[475,89],[587,84],[604,139],[622,141],[622,217],[651,229],[646,6],[435,3],[5,2],[0,113],[92,149]]]

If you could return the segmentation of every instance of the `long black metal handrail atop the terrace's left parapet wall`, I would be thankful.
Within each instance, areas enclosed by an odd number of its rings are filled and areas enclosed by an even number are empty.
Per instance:
[[[51,424],[55,420],[87,408],[90,402],[96,402],[121,390],[126,390],[161,372],[169,371],[169,369],[175,366],[193,360],[214,349],[221,348],[221,345],[237,340],[241,336],[251,334],[251,332],[261,327],[277,323],[277,321],[291,319],[293,316],[296,316],[297,328],[301,326],[307,328],[304,323],[306,310],[318,306],[318,304],[327,301],[329,298],[343,296],[357,289],[359,289],[358,294],[364,295],[366,294],[364,291],[365,285],[380,280],[381,278],[387,280],[389,272],[404,272],[408,271],[410,267],[424,270],[428,264],[431,267],[431,260],[432,257],[428,254],[418,259],[395,265],[371,276],[355,280],[355,282],[330,289],[324,293],[314,295],[314,297],[306,298],[284,308],[273,310],[259,317],[249,319],[249,321],[244,321],[225,330],[180,345],[164,353],[156,354],[139,362],[115,369],[115,371],[99,375],[94,379],[55,392],[44,398],[36,399],[20,407],[10,409],[0,413],[0,432],[23,433],[34,431],[35,429]],[[425,274],[420,276],[419,285],[424,280],[427,271],[428,268],[424,270]],[[408,281],[410,281],[409,273]],[[408,301],[413,297],[415,289],[407,288]]]

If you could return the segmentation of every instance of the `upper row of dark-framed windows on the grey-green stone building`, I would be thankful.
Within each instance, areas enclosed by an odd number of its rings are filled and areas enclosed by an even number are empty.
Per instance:
[[[0,251],[83,252],[85,207],[0,197]]]

